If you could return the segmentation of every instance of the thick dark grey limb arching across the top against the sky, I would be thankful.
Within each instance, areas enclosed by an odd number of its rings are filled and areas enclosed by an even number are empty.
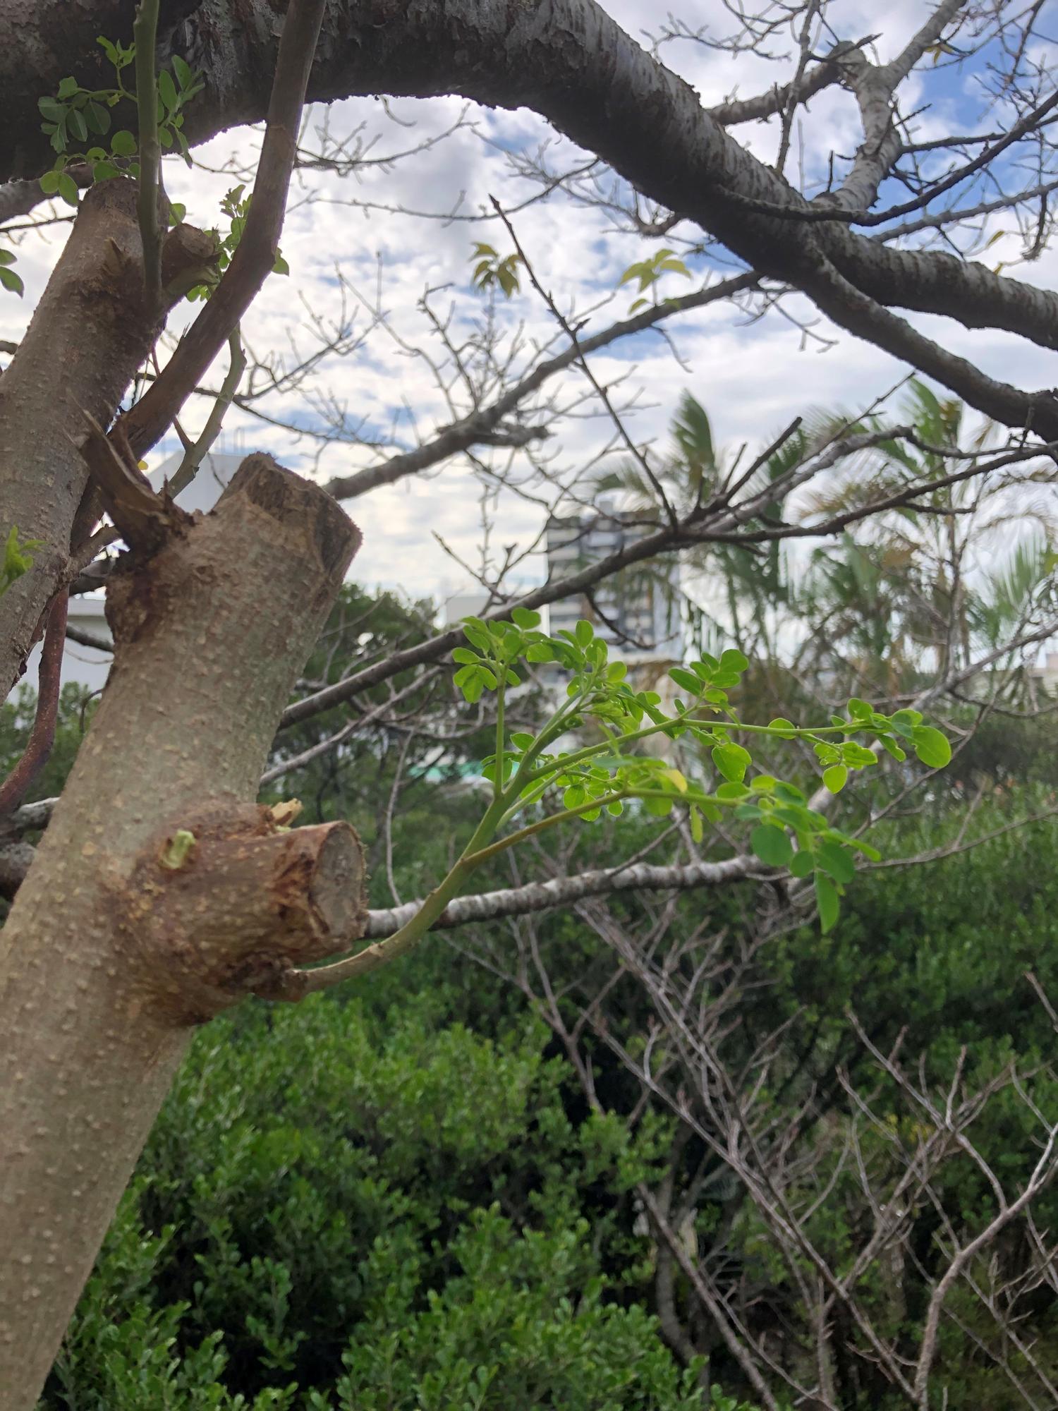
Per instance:
[[[0,20],[0,174],[7,179],[32,176],[48,162],[35,97],[65,73],[90,73],[100,28],[120,34],[131,23],[131,0],[92,8],[80,25],[65,18],[56,25],[48,7],[7,32]],[[986,415],[1052,440],[1058,402],[1050,389],[992,378],[892,310],[942,315],[1054,349],[1058,296],[954,254],[893,248],[849,223],[858,207],[868,217],[903,151],[894,124],[899,86],[931,47],[959,32],[969,14],[968,4],[944,0],[886,65],[870,63],[858,48],[828,59],[827,71],[837,68],[855,92],[866,131],[844,185],[814,200],[758,161],[686,82],[592,0],[332,3],[309,97],[461,95],[487,106],[530,107],[758,274],[801,289],[839,327],[937,378]],[[175,0],[162,4],[161,20],[171,51],[207,73],[206,92],[188,121],[193,141],[264,117],[281,28],[265,0],[238,7]],[[805,85],[798,97],[811,89]],[[1041,107],[1038,123],[1047,116],[1047,104]],[[923,193],[918,205],[928,196]],[[907,203],[900,209],[906,212]],[[841,219],[825,219],[829,210]]]

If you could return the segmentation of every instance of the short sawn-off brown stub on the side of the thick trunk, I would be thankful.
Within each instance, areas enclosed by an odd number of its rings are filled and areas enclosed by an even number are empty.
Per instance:
[[[124,896],[137,1006],[205,1023],[247,995],[292,998],[285,976],[364,934],[364,855],[347,823],[284,828],[220,803],[159,834]]]

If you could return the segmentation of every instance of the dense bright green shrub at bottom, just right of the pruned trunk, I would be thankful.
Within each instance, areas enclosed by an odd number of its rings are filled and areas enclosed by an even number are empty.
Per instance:
[[[537,1026],[430,1010],[323,996],[199,1036],[42,1407],[711,1404],[640,1301],[653,1153],[570,1122]]]

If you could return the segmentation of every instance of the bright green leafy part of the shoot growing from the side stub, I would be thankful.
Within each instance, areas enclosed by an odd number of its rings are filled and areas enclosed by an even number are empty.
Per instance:
[[[846,717],[831,717],[829,725],[801,728],[784,718],[769,725],[749,725],[732,708],[729,691],[739,686],[749,669],[749,659],[735,648],[719,658],[703,655],[688,666],[670,670],[673,682],[687,698],[676,698],[673,714],[662,710],[656,691],[636,690],[626,680],[624,662],[611,662],[605,641],[595,635],[588,621],[577,622],[571,632],[547,636],[540,631],[539,612],[518,607],[509,622],[466,618],[463,631],[467,646],[456,648],[454,684],[470,703],[485,691],[495,691],[497,749],[482,762],[482,773],[492,783],[494,806],[487,831],[498,831],[519,814],[536,806],[546,807],[560,796],[561,809],[473,852],[468,865],[521,838],[553,827],[568,818],[591,823],[604,811],[619,814],[628,800],[664,817],[676,804],[690,811],[691,834],[704,835],[704,820],[719,823],[725,811],[735,820],[752,824],[749,845],[767,866],[786,868],[797,879],[813,878],[820,920],[828,931],[838,919],[839,897],[855,875],[855,854],[877,861],[877,851],[866,842],[834,828],[827,817],[813,809],[804,793],[767,773],[749,777],[753,758],[735,737],[765,735],[776,739],[804,739],[815,749],[824,766],[824,783],[837,793],[851,770],[877,763],[875,749],[853,735],[879,741],[896,759],[906,759],[901,741],[910,744],[930,768],[941,768],[951,758],[945,737],[923,724],[918,711],[903,710],[883,715],[866,701],[851,700]],[[559,706],[536,734],[513,731],[504,725],[505,693],[519,686],[518,666],[554,662],[568,673],[566,701]],[[560,737],[591,720],[602,737],[600,742],[568,751],[552,751]],[[688,735],[711,761],[719,783],[707,787],[688,780],[670,761],[650,758],[636,746],[650,737],[677,739]],[[837,737],[837,738],[827,738]],[[481,841],[481,840],[478,840]]]

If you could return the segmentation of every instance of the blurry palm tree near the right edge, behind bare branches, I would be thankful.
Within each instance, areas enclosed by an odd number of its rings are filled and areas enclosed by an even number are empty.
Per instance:
[[[995,447],[996,429],[985,423],[963,442],[963,406],[918,381],[906,416],[914,443],[886,442],[866,461],[837,467],[803,497],[800,518],[825,522],[941,484],[914,508],[820,545],[790,598],[805,621],[825,624],[808,639],[820,659],[889,696],[1017,635],[1044,604],[1058,533],[1050,460],[952,481]]]

